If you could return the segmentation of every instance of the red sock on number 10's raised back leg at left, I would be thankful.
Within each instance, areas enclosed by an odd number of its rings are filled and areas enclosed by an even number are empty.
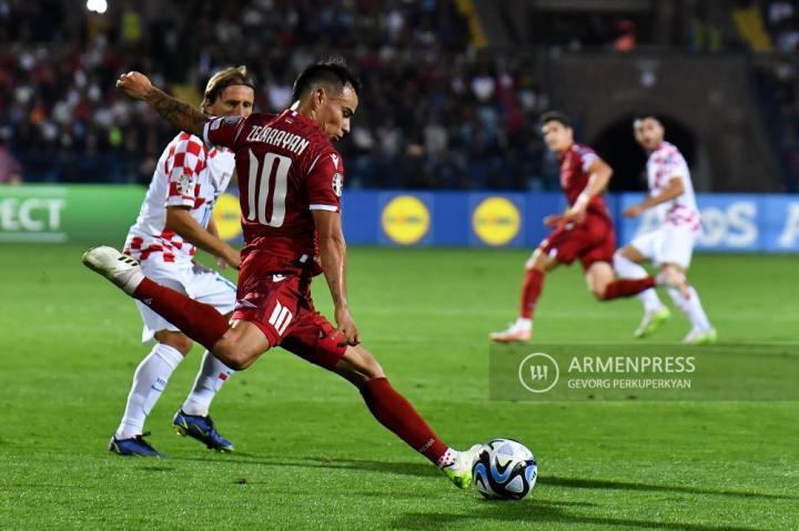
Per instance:
[[[135,288],[133,297],[209,350],[230,329],[227,319],[213,306],[192,300],[146,277]]]

